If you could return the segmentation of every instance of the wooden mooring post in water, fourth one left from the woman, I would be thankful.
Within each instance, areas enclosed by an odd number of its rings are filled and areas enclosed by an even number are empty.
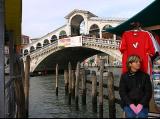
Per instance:
[[[86,105],[86,73],[84,68],[81,70],[81,81],[82,81],[82,105]]]

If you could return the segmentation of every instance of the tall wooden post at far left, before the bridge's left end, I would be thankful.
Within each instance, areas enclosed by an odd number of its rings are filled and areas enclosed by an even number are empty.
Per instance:
[[[25,94],[25,110],[26,117],[28,117],[29,111],[29,77],[30,77],[30,56],[26,57],[25,62],[25,80],[24,80],[24,94]]]

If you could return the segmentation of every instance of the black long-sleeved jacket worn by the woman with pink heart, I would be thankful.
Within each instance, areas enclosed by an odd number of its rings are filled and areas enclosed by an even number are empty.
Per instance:
[[[152,84],[150,76],[144,72],[136,73],[126,72],[121,75],[119,94],[121,97],[121,107],[130,104],[142,104],[149,107],[149,101],[152,97]]]

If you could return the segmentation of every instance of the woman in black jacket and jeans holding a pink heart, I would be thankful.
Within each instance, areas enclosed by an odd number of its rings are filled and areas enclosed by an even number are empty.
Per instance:
[[[126,67],[127,72],[122,73],[119,84],[121,107],[127,118],[147,118],[152,97],[150,76],[140,70],[138,55],[129,56]]]

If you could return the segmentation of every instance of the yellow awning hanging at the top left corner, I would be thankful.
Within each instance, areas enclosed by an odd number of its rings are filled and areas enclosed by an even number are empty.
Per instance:
[[[21,42],[22,0],[5,0],[5,28],[13,32],[15,44]]]

